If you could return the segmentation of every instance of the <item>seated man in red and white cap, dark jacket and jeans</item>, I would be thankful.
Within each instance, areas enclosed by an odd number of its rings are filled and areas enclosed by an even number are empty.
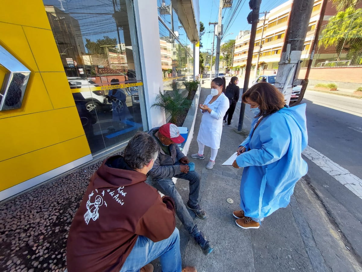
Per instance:
[[[148,134],[153,136],[160,145],[160,153],[148,172],[153,186],[161,193],[173,198],[178,218],[202,248],[203,253],[210,254],[214,246],[199,231],[172,181],[173,177],[189,181],[190,193],[187,207],[193,210],[198,218],[206,218],[205,211],[199,205],[200,175],[194,171],[189,172],[190,168],[187,165],[189,160],[177,145],[185,139],[180,135],[177,126],[171,123],[152,128]]]

